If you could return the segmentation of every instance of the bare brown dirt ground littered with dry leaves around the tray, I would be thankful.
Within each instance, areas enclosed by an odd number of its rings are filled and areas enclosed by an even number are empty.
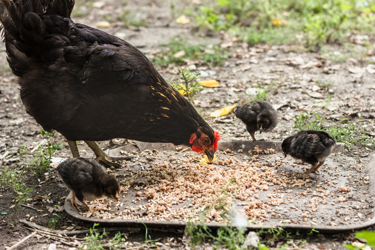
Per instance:
[[[175,10],[171,11],[171,1],[129,0],[126,5],[114,0],[94,3],[86,1],[76,5],[72,19],[76,23],[90,26],[98,25],[99,21],[108,20],[111,23],[110,27],[99,28],[135,45],[151,59],[151,62],[155,54],[166,49],[163,44],[177,35],[190,42],[208,41],[208,43],[219,43],[226,47],[229,57],[221,66],[210,67],[199,60],[190,60],[186,65],[201,71],[204,76],[202,79],[216,79],[220,82],[220,87],[205,88],[198,93],[194,104],[205,114],[204,118],[211,127],[220,131],[222,141],[249,140],[250,137],[245,126],[236,119],[233,112],[216,119],[208,114],[226,105],[242,104],[248,101],[251,97],[246,95],[245,90],[248,87],[258,86],[264,86],[268,90],[266,99],[278,108],[281,119],[275,130],[263,133],[261,136],[257,133],[257,139],[285,139],[294,131],[296,115],[311,111],[313,108],[329,120],[345,119],[345,122],[357,122],[360,118],[362,122],[367,122],[368,135],[375,135],[374,75],[371,74],[372,68],[366,70],[369,63],[375,62],[371,48],[368,48],[368,53],[362,56],[354,56],[354,53],[345,51],[341,45],[337,44],[327,45],[324,52],[318,53],[306,52],[303,47],[295,45],[249,47],[247,44],[233,41],[225,34],[209,34],[208,36],[204,31],[197,31],[193,24],[177,24],[174,20],[176,13],[182,13],[182,10],[190,3],[174,2]],[[120,16],[125,9],[129,10],[129,18],[141,18],[147,20],[148,24],[145,27],[134,28],[118,21],[116,17]],[[5,50],[4,44],[1,44],[1,50]],[[334,58],[338,56],[347,56],[347,59],[336,62]],[[8,167],[14,167],[23,163],[7,160],[17,158],[17,151],[22,145],[25,145],[30,152],[43,138],[39,132],[41,127],[23,110],[15,85],[15,77],[8,69],[4,52],[0,54],[0,63],[0,156],[13,151],[14,154],[12,153],[11,157],[5,155],[1,161],[2,166],[6,163]],[[178,79],[178,75],[174,72],[177,69],[176,66],[170,65],[167,68],[157,69],[167,81]],[[319,86],[319,83],[329,84]],[[52,141],[57,143],[60,140],[63,140],[63,137],[56,133]],[[108,142],[100,144],[105,149],[118,147],[109,146]],[[56,152],[54,157],[71,156],[68,143],[63,141],[62,145],[63,149]],[[79,143],[78,148],[82,156],[93,156],[83,142]],[[366,145],[351,145],[345,148],[345,156],[366,166],[373,151],[373,148]],[[322,177],[318,176],[318,178]],[[57,171],[53,168],[48,171],[47,175],[41,176],[34,176],[29,171],[22,181],[33,190],[30,197],[39,195],[46,198],[27,202],[32,208],[22,206],[17,212],[17,219],[30,220],[30,217],[34,217],[33,223],[47,227],[49,221],[54,218],[53,213],[57,212],[56,206],[63,205],[68,191],[60,185]],[[374,196],[369,199],[374,199]],[[14,211],[10,209],[12,200],[11,190],[0,186],[0,212],[7,212],[6,215],[0,215],[2,235],[0,249],[12,246],[33,232],[20,222],[13,225]],[[58,230],[92,227],[90,224],[76,220],[65,211],[61,211],[60,216],[56,228]],[[139,249],[150,247],[150,245],[144,245],[143,227],[124,232],[127,232],[130,242],[128,247],[132,249],[136,249],[137,246]],[[158,239],[162,242],[160,245],[154,245],[160,249],[188,248],[182,241],[182,230],[148,228],[148,235],[151,239]],[[341,245],[343,242],[354,241],[353,235],[351,232],[314,234],[306,238],[308,244],[304,249],[345,249]],[[61,239],[39,233],[36,237],[27,239],[18,249],[73,249],[77,246],[76,241],[80,242],[79,239],[67,238],[64,243]],[[321,245],[320,248],[318,245]],[[212,245],[202,244],[199,248],[212,249]]]

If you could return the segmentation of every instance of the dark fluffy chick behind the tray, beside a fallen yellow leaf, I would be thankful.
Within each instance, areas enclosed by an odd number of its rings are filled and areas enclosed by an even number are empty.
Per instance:
[[[236,108],[236,117],[246,124],[246,130],[255,141],[255,131],[271,131],[278,124],[279,114],[269,102],[255,101]]]

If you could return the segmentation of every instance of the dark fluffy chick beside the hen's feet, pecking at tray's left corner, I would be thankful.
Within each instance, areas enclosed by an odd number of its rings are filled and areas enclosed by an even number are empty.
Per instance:
[[[75,206],[79,212],[78,203],[75,197],[84,205],[87,211],[98,210],[90,209],[83,200],[95,200],[99,198],[112,198],[118,200],[120,185],[117,179],[107,174],[97,161],[85,158],[70,158],[57,167],[58,174],[61,176],[65,186],[72,190],[72,206]]]

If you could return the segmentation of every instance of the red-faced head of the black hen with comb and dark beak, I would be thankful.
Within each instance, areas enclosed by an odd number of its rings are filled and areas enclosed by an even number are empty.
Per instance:
[[[217,150],[217,142],[219,142],[221,137],[219,131],[212,132],[205,132],[202,129],[198,129],[190,136],[189,141],[191,150],[198,153],[204,153],[207,155],[209,161],[213,160],[213,154]]]

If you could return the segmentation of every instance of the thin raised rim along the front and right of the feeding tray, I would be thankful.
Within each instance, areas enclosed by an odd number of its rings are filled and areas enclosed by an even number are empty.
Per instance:
[[[239,141],[243,142],[243,141]],[[224,143],[222,144],[224,147],[226,146]],[[238,143],[241,146],[240,143]],[[275,145],[276,146],[276,145]],[[338,145],[339,149],[344,149],[344,145]],[[368,169],[369,169],[369,182],[371,183],[371,195],[375,196],[375,154],[371,156],[371,159],[368,162]],[[69,193],[68,197],[71,196]],[[374,198],[373,198],[374,199]],[[373,200],[373,205],[375,206],[375,200]],[[95,218],[87,218],[78,213],[78,211],[71,205],[71,202],[65,200],[64,203],[65,211],[74,218],[78,220],[83,220],[88,223],[99,223],[101,226],[143,226],[144,223],[146,226],[151,227],[170,227],[170,228],[183,228],[186,226],[186,222],[183,221],[150,221],[150,220],[127,220],[127,219],[108,219],[108,220],[101,220]],[[374,210],[374,209],[373,209]],[[211,228],[217,228],[222,226],[228,226],[226,223],[205,223],[207,226]],[[289,230],[303,230],[309,231],[312,228],[318,230],[319,232],[327,232],[327,233],[337,233],[337,232],[344,232],[344,231],[353,231],[358,229],[363,229],[365,227],[369,227],[375,224],[375,211],[373,214],[373,218],[366,222],[360,222],[359,224],[353,224],[348,226],[312,226],[312,225],[300,225],[300,224],[281,224],[277,223],[274,225],[258,225],[258,224],[251,224],[247,228],[249,230],[258,230],[258,229],[270,229],[275,227],[282,227],[284,229]]]

